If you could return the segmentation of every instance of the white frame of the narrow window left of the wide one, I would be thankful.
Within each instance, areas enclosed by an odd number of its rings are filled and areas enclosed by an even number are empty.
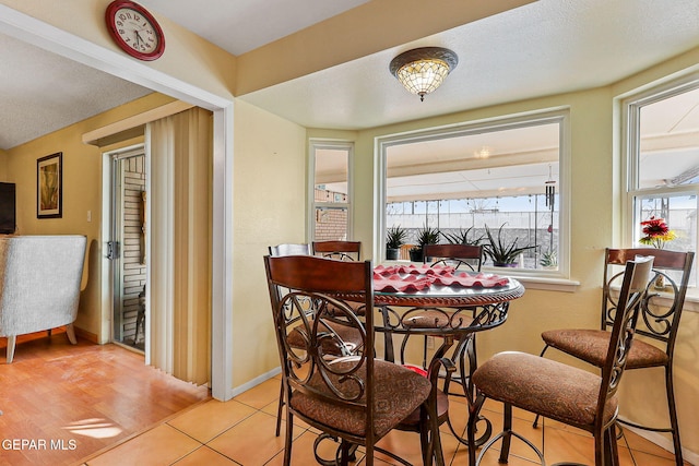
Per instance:
[[[319,150],[347,151],[347,202],[316,202],[316,152]],[[311,139],[308,142],[308,212],[306,213],[306,231],[308,242],[315,241],[316,236],[316,207],[344,206],[347,210],[347,240],[353,240],[354,218],[354,183],[353,183],[354,143],[350,141],[329,141]]]

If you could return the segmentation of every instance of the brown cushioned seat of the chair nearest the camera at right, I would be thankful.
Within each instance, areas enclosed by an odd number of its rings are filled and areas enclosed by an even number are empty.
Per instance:
[[[602,379],[550,359],[507,351],[476,369],[473,382],[489,398],[589,429],[594,423]],[[605,407],[605,422],[616,409],[617,398],[613,396]]]

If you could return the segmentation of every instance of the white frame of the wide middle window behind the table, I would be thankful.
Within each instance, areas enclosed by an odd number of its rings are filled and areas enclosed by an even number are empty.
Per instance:
[[[386,260],[386,199],[387,199],[387,150],[393,145],[430,141],[457,135],[469,135],[484,130],[497,131],[532,126],[532,123],[559,122],[559,244],[558,270],[508,270],[509,275],[520,277],[543,277],[569,279],[570,277],[570,109],[556,107],[521,115],[502,116],[494,119],[469,121],[459,124],[417,130],[406,133],[379,136],[375,140],[375,206],[376,222],[374,237],[374,258]],[[484,267],[484,270],[487,267]]]

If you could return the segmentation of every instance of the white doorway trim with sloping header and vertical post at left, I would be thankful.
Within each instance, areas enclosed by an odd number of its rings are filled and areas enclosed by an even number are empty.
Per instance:
[[[212,395],[222,401],[232,398],[233,291],[229,284],[233,283],[233,100],[169,76],[3,4],[0,4],[0,33],[214,113]],[[104,288],[104,279],[99,282]],[[102,302],[104,307],[104,299]],[[104,312],[109,310],[102,310],[103,318]]]

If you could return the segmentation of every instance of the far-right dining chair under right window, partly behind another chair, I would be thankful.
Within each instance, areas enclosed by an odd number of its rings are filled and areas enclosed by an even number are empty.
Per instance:
[[[668,428],[642,426],[626,419],[623,425],[654,432],[671,432],[677,466],[683,465],[682,442],[677,422],[677,406],[673,384],[673,355],[679,328],[679,319],[685,303],[689,275],[694,263],[694,252],[677,252],[665,249],[632,248],[606,249],[604,254],[604,282],[602,296],[601,328],[562,328],[542,333],[545,346],[542,356],[548,348],[555,348],[590,365],[601,368],[605,361],[605,349],[608,345],[614,315],[614,283],[619,275],[614,270],[637,255],[653,255],[653,286],[649,286],[641,301],[640,319],[636,330],[641,336],[633,343],[626,368],[628,370],[663,368],[665,372],[665,394],[670,416]],[[663,285],[655,284],[662,279]],[[654,344],[653,344],[654,343]],[[649,373],[649,375],[651,375]],[[538,418],[534,420],[536,427]]]

